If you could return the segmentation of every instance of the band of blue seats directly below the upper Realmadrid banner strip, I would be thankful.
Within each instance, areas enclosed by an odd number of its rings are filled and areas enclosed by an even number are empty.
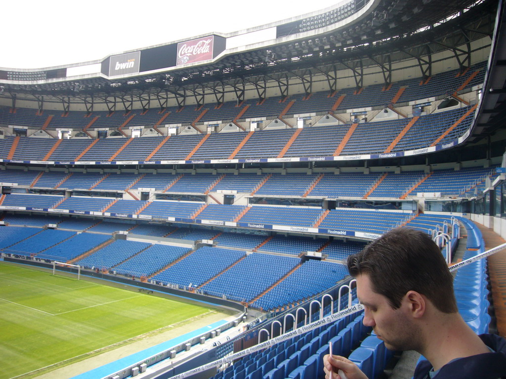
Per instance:
[[[414,193],[417,192],[441,192],[443,195],[462,196],[465,191],[485,184],[485,178],[489,176],[493,180],[498,174],[496,166],[488,168],[466,168],[459,170],[434,170],[427,180],[421,183]],[[257,196],[307,196],[327,198],[363,198],[374,183],[385,172],[349,173],[313,173],[307,174],[179,174],[166,173],[158,174],[128,174],[128,173],[80,173],[71,172],[44,172],[44,171],[21,171],[21,170],[0,170],[0,181],[4,183],[15,183],[21,187],[28,187],[34,183],[34,188],[58,189],[90,189],[97,191],[123,191],[125,187],[132,185],[130,189],[155,188],[157,192],[178,193],[178,194],[205,194],[207,191],[215,193],[228,190],[237,193],[251,194],[254,191]],[[386,172],[386,177],[379,183],[374,191],[368,195],[369,198],[400,198],[407,193],[411,187],[427,176],[423,171],[403,171],[400,174]],[[66,176],[64,176],[66,175]],[[102,180],[102,181],[101,181]],[[101,181],[101,182],[100,182]],[[100,183],[99,183],[100,182]],[[313,184],[314,185],[313,187]],[[105,189],[107,188],[107,189]],[[312,188],[312,189],[311,189]],[[67,200],[65,200],[67,202]],[[123,204],[120,206],[120,204]],[[125,211],[139,210],[145,203],[128,202],[114,204],[108,212],[125,213]],[[123,210],[121,210],[123,208]],[[71,209],[71,208],[69,208]]]

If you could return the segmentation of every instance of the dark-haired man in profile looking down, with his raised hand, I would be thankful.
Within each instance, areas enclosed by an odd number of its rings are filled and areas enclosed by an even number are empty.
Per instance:
[[[462,319],[453,277],[426,233],[397,228],[348,258],[364,305],[364,325],[391,350],[415,350],[427,360],[414,379],[506,377],[506,341],[477,336]],[[326,379],[364,379],[350,360],[326,355]]]

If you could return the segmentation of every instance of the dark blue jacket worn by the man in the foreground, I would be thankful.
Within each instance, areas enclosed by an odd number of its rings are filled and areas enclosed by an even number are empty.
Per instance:
[[[506,377],[506,340],[494,334],[480,335],[482,341],[495,353],[459,358],[445,364],[434,379],[497,379]],[[432,365],[424,360],[418,363],[413,379],[427,379]]]

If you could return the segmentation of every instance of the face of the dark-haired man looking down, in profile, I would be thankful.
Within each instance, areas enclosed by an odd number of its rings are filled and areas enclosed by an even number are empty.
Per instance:
[[[403,299],[398,309],[388,299],[372,290],[367,274],[357,279],[357,296],[365,307],[364,325],[372,326],[374,333],[390,350],[417,350],[421,343],[419,328],[409,317],[409,304]]]

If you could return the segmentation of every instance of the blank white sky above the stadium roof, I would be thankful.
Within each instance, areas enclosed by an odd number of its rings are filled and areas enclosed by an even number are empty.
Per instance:
[[[339,0],[46,0],[2,4],[3,68],[45,68],[284,20]]]

